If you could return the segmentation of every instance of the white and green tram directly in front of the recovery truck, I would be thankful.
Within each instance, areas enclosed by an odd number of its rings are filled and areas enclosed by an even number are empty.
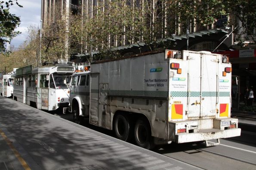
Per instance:
[[[40,110],[56,110],[69,105],[69,79],[74,73],[74,62],[57,63],[33,68],[17,69],[13,99]]]

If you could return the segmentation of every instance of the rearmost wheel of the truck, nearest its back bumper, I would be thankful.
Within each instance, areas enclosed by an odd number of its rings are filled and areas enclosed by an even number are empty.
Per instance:
[[[138,146],[145,149],[153,149],[153,138],[151,137],[151,128],[145,119],[137,120],[134,127],[134,139]]]

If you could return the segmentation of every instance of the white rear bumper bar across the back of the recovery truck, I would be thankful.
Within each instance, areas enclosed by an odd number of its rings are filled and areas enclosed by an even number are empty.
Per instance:
[[[196,142],[202,140],[211,140],[241,135],[241,128],[232,128],[223,131],[206,132],[206,133],[183,133],[176,135],[176,143]]]

